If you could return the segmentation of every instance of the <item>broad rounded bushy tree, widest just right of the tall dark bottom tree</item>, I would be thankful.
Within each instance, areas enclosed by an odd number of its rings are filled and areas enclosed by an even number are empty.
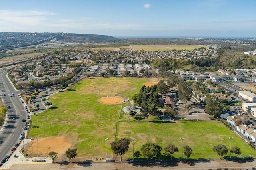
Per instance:
[[[148,142],[146,144],[143,144],[140,150],[143,156],[145,156],[147,159],[151,159],[161,156],[162,147],[158,144]]]

